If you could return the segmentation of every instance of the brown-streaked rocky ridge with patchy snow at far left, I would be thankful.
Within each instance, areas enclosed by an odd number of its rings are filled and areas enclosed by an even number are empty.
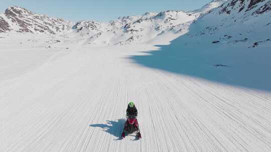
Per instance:
[[[61,18],[48,17],[18,6],[10,6],[0,13],[0,32],[50,33],[71,30],[74,23]]]

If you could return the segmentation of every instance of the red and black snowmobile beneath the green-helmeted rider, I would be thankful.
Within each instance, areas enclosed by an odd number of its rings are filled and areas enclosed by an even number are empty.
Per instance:
[[[135,115],[127,115],[127,120],[124,124],[123,131],[121,136],[124,138],[126,134],[136,133],[138,138],[141,138],[141,133],[139,129],[139,122],[137,116]]]

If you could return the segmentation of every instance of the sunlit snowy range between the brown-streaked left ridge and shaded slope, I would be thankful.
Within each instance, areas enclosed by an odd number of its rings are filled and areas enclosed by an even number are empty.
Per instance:
[[[109,22],[83,20],[77,22],[73,29],[77,35],[84,37],[86,44],[141,43],[166,37],[170,41],[185,33],[190,23],[201,14],[225,1],[213,0],[201,9],[189,12],[177,10],[146,12],[139,16],[118,17]]]

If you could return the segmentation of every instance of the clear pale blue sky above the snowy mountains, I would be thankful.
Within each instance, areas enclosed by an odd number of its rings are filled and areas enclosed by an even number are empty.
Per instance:
[[[67,20],[109,21],[148,11],[193,10],[211,0],[0,0],[0,12],[11,5]]]

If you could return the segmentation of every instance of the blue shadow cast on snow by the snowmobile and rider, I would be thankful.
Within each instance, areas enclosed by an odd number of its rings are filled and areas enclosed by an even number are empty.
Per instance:
[[[125,123],[125,119],[117,119],[115,121],[106,120],[106,124],[89,124],[89,126],[92,127],[100,127],[103,131],[112,134],[115,137],[118,137],[114,140],[120,140],[121,139],[121,132],[123,129]]]

